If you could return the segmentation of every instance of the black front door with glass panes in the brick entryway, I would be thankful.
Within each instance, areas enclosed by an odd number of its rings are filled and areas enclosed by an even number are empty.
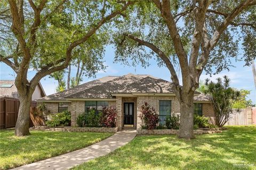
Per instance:
[[[134,103],[124,102],[124,127],[134,126]]]

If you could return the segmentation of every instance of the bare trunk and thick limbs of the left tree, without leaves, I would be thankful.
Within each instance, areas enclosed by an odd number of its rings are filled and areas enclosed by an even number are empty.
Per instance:
[[[73,49],[86,42],[96,31],[104,25],[106,22],[110,21],[116,15],[123,15],[123,11],[127,9],[130,5],[134,2],[125,2],[123,7],[120,10],[116,10],[108,14],[106,17],[103,17],[98,23],[93,25],[87,33],[84,34],[83,37],[76,39],[75,41],[71,42],[67,49],[66,49],[66,56],[63,59],[57,60],[55,63],[46,64],[46,66],[42,67],[38,70],[35,76],[28,81],[27,80],[27,73],[28,73],[28,66],[30,65],[30,59],[33,58],[33,51],[35,50],[34,47],[36,46],[36,31],[38,30],[39,26],[41,25],[41,12],[45,7],[47,0],[42,0],[36,6],[36,4],[29,0],[29,5],[34,11],[34,22],[31,25],[28,33],[25,35],[25,27],[24,27],[24,15],[23,15],[23,1],[20,0],[17,4],[17,1],[9,1],[10,4],[10,11],[12,17],[12,32],[17,39],[21,53],[21,60],[15,59],[15,55],[13,56],[3,56],[0,54],[0,62],[4,62],[9,67],[11,67],[17,74],[15,78],[15,85],[17,86],[19,99],[20,99],[20,109],[18,114],[18,120],[15,126],[15,135],[17,136],[25,136],[29,134],[29,111],[30,111],[30,103],[31,103],[31,96],[35,91],[36,85],[39,83],[43,77],[52,74],[55,71],[60,71],[68,67],[70,60],[72,59],[72,51]],[[60,2],[57,5],[57,10],[63,3],[66,3],[66,0]],[[54,11],[53,11],[54,12]],[[44,20],[47,19],[50,15],[45,15],[43,18]],[[28,36],[27,36],[28,35]],[[26,40],[25,37],[28,37]],[[11,60],[10,60],[11,59]],[[12,59],[14,62],[12,62]]]

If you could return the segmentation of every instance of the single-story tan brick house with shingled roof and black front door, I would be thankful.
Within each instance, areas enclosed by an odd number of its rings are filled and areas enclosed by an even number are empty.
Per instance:
[[[68,109],[71,112],[71,126],[76,126],[76,118],[90,108],[114,106],[117,111],[117,127],[140,128],[139,109],[146,101],[156,108],[159,118],[179,114],[180,105],[175,97],[172,83],[150,75],[107,76],[78,85],[68,90],[38,99],[45,102],[51,113]],[[195,112],[210,117],[214,121],[214,112],[209,97],[196,92]]]

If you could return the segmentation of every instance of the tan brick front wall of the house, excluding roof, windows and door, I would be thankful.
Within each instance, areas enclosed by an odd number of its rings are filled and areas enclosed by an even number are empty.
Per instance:
[[[156,109],[157,114],[159,114],[159,100],[171,100],[172,101],[172,114],[180,113],[180,104],[178,99],[175,96],[138,96],[138,97],[122,97],[116,96],[116,101],[108,101],[108,107],[115,107],[117,112],[117,122],[116,127],[118,130],[122,129],[123,125],[123,103],[124,102],[134,102],[134,127],[137,129],[141,128],[141,119],[140,115],[140,107],[144,102],[148,102],[151,107]],[[39,104],[39,102],[37,103]],[[57,113],[58,112],[58,102],[46,102],[46,108],[50,110],[50,112]],[[79,114],[82,114],[84,110],[84,101],[72,101],[68,103],[68,110],[71,112],[71,126],[77,126],[76,118]],[[203,115],[209,117],[209,122],[211,124],[215,124],[215,116],[214,110],[211,103],[203,103],[202,104]]]

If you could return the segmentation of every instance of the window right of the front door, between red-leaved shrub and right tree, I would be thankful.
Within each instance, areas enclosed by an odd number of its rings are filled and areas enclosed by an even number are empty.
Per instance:
[[[171,116],[172,101],[171,100],[159,100],[159,122],[165,123],[166,116]]]

